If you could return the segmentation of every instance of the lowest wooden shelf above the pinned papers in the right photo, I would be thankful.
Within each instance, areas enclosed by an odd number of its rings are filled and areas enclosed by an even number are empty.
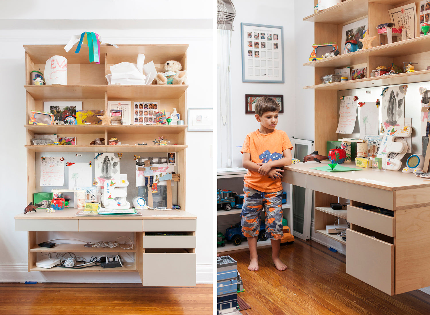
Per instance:
[[[341,91],[350,89],[371,88],[375,86],[389,86],[395,84],[424,82],[429,80],[430,70],[421,70],[409,73],[392,74],[389,76],[376,76],[373,78],[349,80],[344,82],[316,84],[313,86],[304,86],[303,89]]]

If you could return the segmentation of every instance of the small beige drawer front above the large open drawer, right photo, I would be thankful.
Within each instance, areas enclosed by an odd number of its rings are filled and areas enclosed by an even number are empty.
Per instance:
[[[349,205],[348,222],[384,235],[396,236],[396,219],[385,214]]]

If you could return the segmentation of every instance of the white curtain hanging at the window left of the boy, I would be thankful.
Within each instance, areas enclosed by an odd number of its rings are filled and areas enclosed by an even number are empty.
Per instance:
[[[231,167],[231,83],[230,83],[230,30],[218,29],[218,168]]]

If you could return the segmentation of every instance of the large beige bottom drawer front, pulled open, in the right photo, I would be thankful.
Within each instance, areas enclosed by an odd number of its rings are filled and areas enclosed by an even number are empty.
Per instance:
[[[347,274],[393,295],[394,245],[347,229]]]

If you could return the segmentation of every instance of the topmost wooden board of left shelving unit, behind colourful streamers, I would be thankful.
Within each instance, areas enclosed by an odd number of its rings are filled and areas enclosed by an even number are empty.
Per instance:
[[[46,60],[54,55],[67,58],[68,64],[89,64],[88,45],[82,45],[78,54],[75,54],[77,45],[69,52],[64,50],[65,45],[24,45],[25,51],[34,64],[45,64]],[[145,55],[145,64],[154,61],[154,64],[164,64],[166,60],[181,60],[188,45],[100,45],[101,64],[104,64],[104,54],[108,54],[108,63],[117,64],[123,61],[136,63],[139,53]],[[162,53],[160,53],[162,52]]]

